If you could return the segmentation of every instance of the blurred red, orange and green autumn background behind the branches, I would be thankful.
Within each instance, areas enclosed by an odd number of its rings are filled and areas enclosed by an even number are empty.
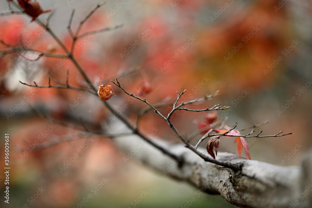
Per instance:
[[[51,28],[67,47],[72,41],[66,29],[71,10],[76,9],[72,21],[76,29],[87,12],[100,3],[39,2],[44,9],[57,5]],[[1,13],[7,12],[7,1],[1,0],[0,8]],[[120,78],[121,84],[131,93],[150,85],[152,91],[142,95],[150,103],[174,99],[176,91],[182,89],[187,89],[185,100],[220,90],[215,99],[191,107],[207,108],[218,103],[231,106],[231,110],[218,111],[218,118],[227,119],[229,126],[237,122],[238,129],[270,120],[259,128],[264,135],[281,130],[293,134],[247,139],[251,159],[300,165],[302,154],[312,146],[311,12],[311,1],[108,0],[81,32],[120,23],[124,26],[78,41],[74,56],[95,86],[136,69]],[[23,44],[32,49],[62,53],[56,41],[30,20],[27,15],[0,17],[0,39],[20,46],[22,37]],[[4,49],[0,45],[0,50]],[[23,56],[37,57],[31,53]],[[134,160],[124,161],[125,155],[109,138],[89,136],[28,152],[33,146],[78,133],[38,116],[30,105],[73,126],[81,127],[82,120],[88,128],[97,130],[114,122],[96,96],[64,89],[37,90],[18,82],[31,84],[35,80],[47,85],[47,72],[64,82],[66,69],[69,83],[85,87],[70,61],[43,57],[34,62],[14,53],[0,53],[1,164],[4,133],[10,133],[11,150],[10,205],[1,200],[1,207],[234,207],[221,196],[199,194],[185,182],[165,177]],[[107,102],[116,110],[128,104],[122,114],[134,121],[144,103],[129,99],[116,88],[115,94]],[[82,101],[72,107],[77,99]],[[18,110],[7,116],[15,107]],[[162,108],[161,112],[169,110]],[[197,130],[193,120],[203,120],[204,116],[177,112],[173,122],[181,133],[189,135]],[[179,142],[166,123],[149,112],[140,129],[148,135],[153,128],[160,129],[156,136]],[[219,151],[236,152],[233,139],[222,139]],[[75,154],[75,161],[62,171],[60,167]],[[1,176],[0,187],[4,190],[3,172]],[[88,195],[92,197],[86,200]],[[196,200],[189,205],[192,197]]]

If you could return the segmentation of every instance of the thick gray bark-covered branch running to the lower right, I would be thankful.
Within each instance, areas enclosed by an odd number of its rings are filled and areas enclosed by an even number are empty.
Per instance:
[[[127,131],[119,121],[110,128],[116,133]],[[220,194],[233,205],[312,207],[312,151],[306,154],[300,167],[279,167],[247,160],[230,152],[218,152],[216,159],[241,165],[241,170],[234,172],[230,168],[205,162],[182,143],[172,145],[159,138],[153,140],[181,157],[183,162],[174,161],[136,135],[114,139],[116,146],[125,154],[124,160],[135,158],[165,176],[188,181],[209,194]],[[207,154],[205,149],[200,151]]]

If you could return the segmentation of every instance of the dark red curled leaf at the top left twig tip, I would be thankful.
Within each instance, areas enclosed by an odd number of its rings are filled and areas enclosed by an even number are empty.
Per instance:
[[[41,5],[37,2],[37,0],[17,0],[17,2],[25,10],[25,13],[32,17],[31,22],[35,21],[36,18],[42,13],[52,11],[51,9],[44,11]]]

